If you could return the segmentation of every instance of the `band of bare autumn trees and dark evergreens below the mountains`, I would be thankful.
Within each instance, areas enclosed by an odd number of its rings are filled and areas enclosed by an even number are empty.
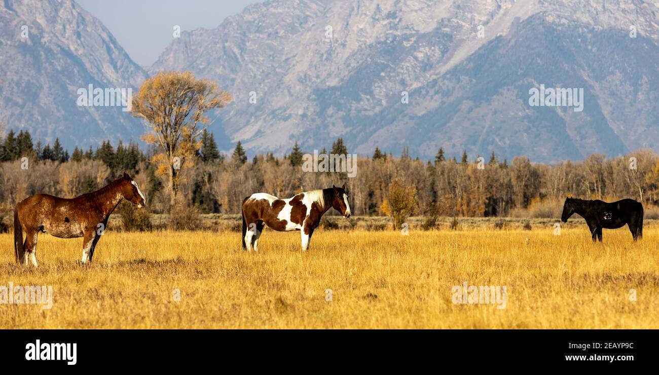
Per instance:
[[[31,142],[28,132],[9,132],[0,140],[4,161],[0,196],[5,208],[37,192],[59,196],[90,192],[128,171],[146,193],[152,212],[173,209],[167,175],[154,148],[143,152],[136,144],[113,147],[103,142],[96,150],[76,148],[69,157],[57,140],[52,147]],[[295,144],[283,158],[268,153],[248,160],[239,142],[225,156],[217,150],[213,135],[204,130],[192,165],[177,175],[178,204],[200,212],[238,214],[243,198],[253,192],[288,197],[345,183],[357,215],[393,216],[403,210],[407,215],[424,216],[556,217],[565,196],[634,198],[654,204],[659,194],[659,156],[650,150],[542,164],[523,157],[509,162],[495,154],[470,158],[466,152],[460,159],[445,158],[441,149],[434,159],[421,160],[411,158],[407,150],[395,157],[376,148],[372,156],[358,158],[354,178],[343,172],[302,171],[302,156],[307,152],[312,154]],[[320,154],[348,152],[339,138],[329,152]],[[30,161],[28,169],[22,169],[24,156]],[[545,208],[548,212],[532,212]]]

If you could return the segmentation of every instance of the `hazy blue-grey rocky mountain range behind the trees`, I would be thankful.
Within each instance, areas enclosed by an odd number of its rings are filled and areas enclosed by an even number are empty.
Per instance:
[[[29,38],[22,38],[22,26]],[[184,31],[147,69],[71,0],[0,4],[0,121],[67,147],[137,140],[121,107],[76,90],[192,71],[233,94],[212,113],[221,148],[376,146],[532,161],[659,146],[659,6],[643,0],[269,0]],[[578,88],[583,111],[530,105]]]

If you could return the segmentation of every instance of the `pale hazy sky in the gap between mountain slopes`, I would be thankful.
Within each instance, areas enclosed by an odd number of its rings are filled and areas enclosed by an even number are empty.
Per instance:
[[[262,0],[76,0],[117,38],[133,61],[148,67],[181,31],[216,28],[227,16]]]

